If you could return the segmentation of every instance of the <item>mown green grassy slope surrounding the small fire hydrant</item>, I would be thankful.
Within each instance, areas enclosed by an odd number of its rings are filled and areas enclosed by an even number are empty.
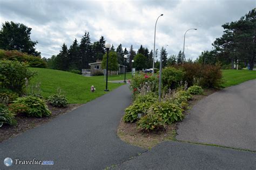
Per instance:
[[[30,68],[37,71],[37,76],[31,79],[31,84],[41,83],[43,97],[49,97],[57,92],[58,87],[65,91],[69,103],[87,103],[103,94],[105,89],[104,76],[84,77],[79,74],[41,68]],[[95,86],[96,91],[91,92],[91,86]],[[111,91],[123,84],[109,83],[108,89]]]

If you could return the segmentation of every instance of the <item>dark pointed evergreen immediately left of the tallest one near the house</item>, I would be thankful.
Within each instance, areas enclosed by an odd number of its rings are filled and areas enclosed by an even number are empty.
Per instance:
[[[74,40],[73,44],[70,46],[69,49],[69,70],[79,70],[81,68],[81,58],[79,54],[79,45],[77,43],[77,39]]]

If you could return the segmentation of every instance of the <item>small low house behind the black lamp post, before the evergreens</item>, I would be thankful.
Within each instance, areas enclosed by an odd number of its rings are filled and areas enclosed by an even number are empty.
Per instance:
[[[102,69],[102,61],[97,60],[95,63],[89,63],[91,66],[90,73],[89,70],[87,69],[87,73],[83,73],[85,75],[90,74],[90,76],[94,76],[96,72],[101,72],[104,74],[104,69]],[[125,72],[125,66],[124,65],[119,65],[119,70],[118,71],[109,71],[109,75],[117,75],[117,74],[124,74]]]

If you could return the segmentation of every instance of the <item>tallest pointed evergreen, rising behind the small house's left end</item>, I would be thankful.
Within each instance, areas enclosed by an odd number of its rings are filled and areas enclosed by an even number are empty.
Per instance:
[[[85,31],[79,45],[79,51],[80,57],[82,58],[82,69],[89,69],[89,63],[94,62],[89,32]]]

